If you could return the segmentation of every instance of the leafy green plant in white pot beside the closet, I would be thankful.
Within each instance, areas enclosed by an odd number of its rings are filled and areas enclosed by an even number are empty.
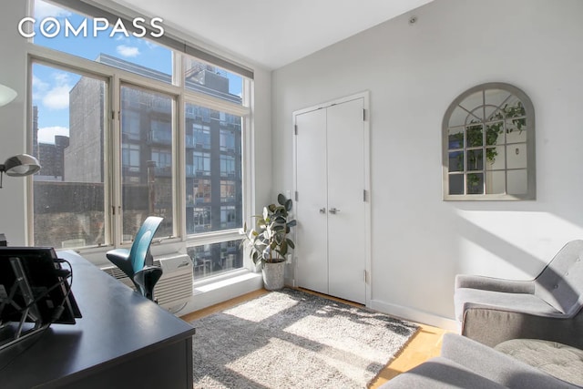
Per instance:
[[[241,245],[247,245],[250,257],[255,265],[261,263],[261,272],[265,289],[274,291],[283,288],[285,256],[294,243],[289,237],[296,220],[290,220],[292,200],[281,193],[277,204],[263,207],[261,215],[255,215],[255,228],[248,230],[244,223],[240,231],[244,235]]]

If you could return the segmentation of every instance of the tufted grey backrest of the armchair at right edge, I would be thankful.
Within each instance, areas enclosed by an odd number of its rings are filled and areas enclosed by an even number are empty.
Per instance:
[[[569,241],[535,280],[535,294],[573,316],[583,307],[583,241]]]

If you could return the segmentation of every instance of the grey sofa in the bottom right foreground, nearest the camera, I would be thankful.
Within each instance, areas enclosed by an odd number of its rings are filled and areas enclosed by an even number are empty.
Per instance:
[[[561,389],[580,386],[568,384],[506,353],[454,333],[445,334],[440,356],[397,375],[381,386],[383,389],[505,387]]]

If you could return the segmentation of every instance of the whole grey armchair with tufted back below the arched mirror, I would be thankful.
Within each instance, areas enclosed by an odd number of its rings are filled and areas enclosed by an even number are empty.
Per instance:
[[[583,349],[583,241],[570,241],[535,280],[458,274],[455,316],[461,333],[494,347],[509,339]]]

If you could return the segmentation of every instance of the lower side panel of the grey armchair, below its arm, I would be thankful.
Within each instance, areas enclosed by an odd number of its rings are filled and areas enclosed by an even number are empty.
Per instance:
[[[499,308],[465,310],[462,335],[494,347],[510,339],[540,339],[583,349],[583,312],[575,317],[548,317]]]

